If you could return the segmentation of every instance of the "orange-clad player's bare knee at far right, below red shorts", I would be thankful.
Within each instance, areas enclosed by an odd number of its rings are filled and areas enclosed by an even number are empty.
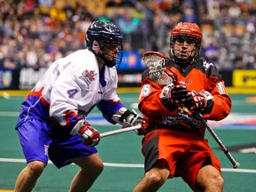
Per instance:
[[[204,192],[221,192],[224,180],[219,170],[212,164],[205,165],[200,169],[196,178],[196,188]]]

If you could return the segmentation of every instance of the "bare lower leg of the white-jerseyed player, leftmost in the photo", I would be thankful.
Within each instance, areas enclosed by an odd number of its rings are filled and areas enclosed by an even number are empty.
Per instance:
[[[36,185],[36,180],[40,177],[44,171],[46,164],[41,161],[32,161],[20,172],[16,183],[15,192],[32,191]]]

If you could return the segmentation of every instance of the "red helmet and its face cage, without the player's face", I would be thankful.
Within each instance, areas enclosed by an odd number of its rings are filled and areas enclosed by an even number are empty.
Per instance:
[[[174,43],[179,38],[189,38],[195,41],[195,54],[191,54],[188,60],[180,60],[178,57],[175,56],[174,53]],[[200,46],[201,41],[203,38],[203,34],[200,28],[196,25],[196,23],[189,23],[189,22],[180,22],[178,23],[171,31],[171,38],[170,38],[170,57],[176,63],[179,64],[192,64],[199,58]]]

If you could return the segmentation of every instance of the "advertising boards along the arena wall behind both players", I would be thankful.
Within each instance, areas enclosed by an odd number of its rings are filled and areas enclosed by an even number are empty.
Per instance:
[[[132,53],[131,57],[132,59],[124,60],[124,65],[122,63],[123,67],[118,69],[118,87],[130,88],[134,92],[134,88],[140,87],[141,74],[145,67],[141,65],[138,55],[136,56],[136,54]],[[31,90],[36,82],[44,75],[46,69],[0,68],[0,90]],[[236,69],[233,72],[223,71],[222,77],[229,93],[256,92],[256,70]]]

